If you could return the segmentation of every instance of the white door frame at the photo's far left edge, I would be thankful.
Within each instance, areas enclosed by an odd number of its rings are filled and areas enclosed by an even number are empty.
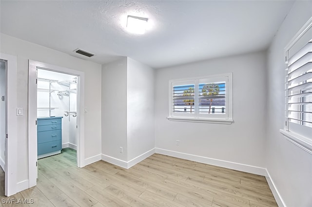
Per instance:
[[[17,193],[18,150],[16,116],[17,108],[17,57],[0,53],[0,59],[6,61],[6,131],[5,143],[5,183],[6,196]]]

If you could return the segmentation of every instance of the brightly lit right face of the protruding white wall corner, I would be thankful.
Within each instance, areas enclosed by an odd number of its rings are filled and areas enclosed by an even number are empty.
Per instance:
[[[128,161],[155,147],[154,69],[128,58]]]

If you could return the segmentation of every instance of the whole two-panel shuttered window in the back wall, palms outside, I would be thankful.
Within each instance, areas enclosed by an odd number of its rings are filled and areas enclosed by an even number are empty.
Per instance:
[[[171,121],[231,123],[232,73],[169,83]]]

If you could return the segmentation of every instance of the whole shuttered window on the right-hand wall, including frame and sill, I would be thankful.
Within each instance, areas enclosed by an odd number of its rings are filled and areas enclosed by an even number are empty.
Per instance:
[[[312,18],[286,47],[285,127],[280,132],[312,154]]]

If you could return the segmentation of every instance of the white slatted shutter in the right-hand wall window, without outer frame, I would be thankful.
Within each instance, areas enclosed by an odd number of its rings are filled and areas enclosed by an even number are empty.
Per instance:
[[[312,137],[312,40],[288,60],[286,119],[288,131]]]

